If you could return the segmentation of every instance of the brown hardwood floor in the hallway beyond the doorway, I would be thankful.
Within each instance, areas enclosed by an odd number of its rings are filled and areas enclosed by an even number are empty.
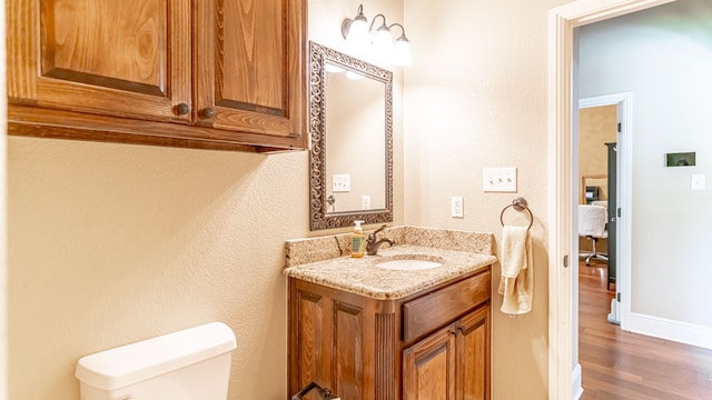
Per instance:
[[[606,317],[605,263],[578,266],[582,400],[712,400],[712,350],[622,331]]]

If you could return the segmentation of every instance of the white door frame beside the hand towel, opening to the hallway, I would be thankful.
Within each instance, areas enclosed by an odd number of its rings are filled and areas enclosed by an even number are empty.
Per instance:
[[[568,268],[577,256],[573,243],[575,142],[573,113],[574,29],[674,0],[578,0],[548,13],[548,399],[577,399],[581,377],[574,358],[574,278]]]

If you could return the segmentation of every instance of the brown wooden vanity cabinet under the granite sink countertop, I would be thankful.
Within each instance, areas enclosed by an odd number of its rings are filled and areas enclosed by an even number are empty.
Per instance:
[[[490,399],[491,267],[399,299],[289,278],[289,392]]]

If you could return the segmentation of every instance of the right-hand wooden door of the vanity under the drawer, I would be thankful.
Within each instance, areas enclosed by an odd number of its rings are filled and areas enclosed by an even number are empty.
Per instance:
[[[490,399],[490,307],[457,323],[457,399]]]

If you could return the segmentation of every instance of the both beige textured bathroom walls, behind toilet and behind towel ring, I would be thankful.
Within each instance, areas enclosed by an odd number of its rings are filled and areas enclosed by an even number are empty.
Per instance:
[[[493,303],[495,399],[546,398],[546,29],[565,2],[364,2],[405,19],[414,51],[405,101],[399,71],[394,88],[395,224],[500,238],[514,196],[535,216],[534,310]],[[312,0],[309,37],[344,50],[358,3]],[[8,158],[11,399],[78,399],[79,357],[210,320],[238,338],[230,399],[286,397],[284,240],[329,233],[308,232],[306,152],[10,138]],[[518,192],[483,193],[486,167],[517,167]]]

